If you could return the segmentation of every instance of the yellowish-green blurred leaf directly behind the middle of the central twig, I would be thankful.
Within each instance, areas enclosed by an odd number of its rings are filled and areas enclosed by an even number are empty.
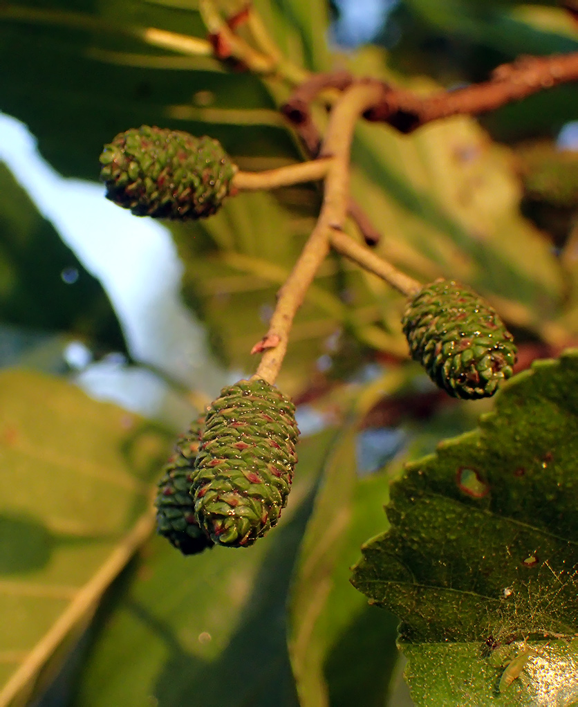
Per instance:
[[[213,334],[213,349],[228,365],[253,368],[249,352],[264,336],[276,292],[313,225],[271,194],[256,193],[228,199],[204,223],[172,227],[186,267],[185,301]],[[348,325],[362,336],[379,313],[360,271],[328,259],[295,318],[280,387],[297,390],[326,353],[332,334]]]

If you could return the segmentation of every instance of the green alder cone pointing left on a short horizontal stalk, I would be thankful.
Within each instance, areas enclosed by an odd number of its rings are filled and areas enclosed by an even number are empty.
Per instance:
[[[237,168],[218,141],[143,125],[100,155],[107,199],[135,216],[203,218],[220,208]]]

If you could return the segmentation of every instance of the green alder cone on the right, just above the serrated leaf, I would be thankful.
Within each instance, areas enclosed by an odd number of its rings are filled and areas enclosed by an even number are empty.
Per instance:
[[[451,280],[436,280],[408,302],[401,320],[412,358],[449,395],[494,395],[512,375],[516,346],[497,312]]]

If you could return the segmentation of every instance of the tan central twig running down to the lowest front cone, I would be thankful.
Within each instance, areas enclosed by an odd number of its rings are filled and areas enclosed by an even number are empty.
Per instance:
[[[307,288],[319,265],[329,252],[331,228],[341,228],[346,219],[349,196],[349,153],[355,122],[379,97],[374,83],[356,83],[343,93],[331,112],[322,156],[331,156],[331,167],[325,178],[324,199],[313,233],[305,244],[290,276],[278,293],[277,305],[266,336],[276,340],[274,348],[266,349],[256,370],[256,376],[275,382],[285,351],[295,313],[300,308]]]

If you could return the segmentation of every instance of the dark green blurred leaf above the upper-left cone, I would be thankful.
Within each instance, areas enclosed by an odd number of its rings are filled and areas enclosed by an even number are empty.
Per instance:
[[[95,179],[102,145],[141,124],[211,134],[235,157],[297,156],[278,115],[262,110],[275,106],[258,77],[148,45],[149,27],[204,37],[196,9],[142,0],[80,9],[0,10],[0,61],[13,67],[0,76],[1,110],[28,124],[59,172]]]

